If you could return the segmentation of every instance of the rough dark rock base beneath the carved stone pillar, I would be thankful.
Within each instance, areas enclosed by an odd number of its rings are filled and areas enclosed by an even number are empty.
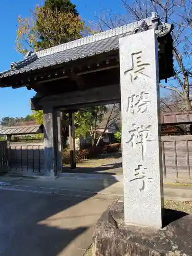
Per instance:
[[[124,224],[123,203],[112,204],[97,221],[93,256],[192,255],[192,215],[164,210],[164,228]]]

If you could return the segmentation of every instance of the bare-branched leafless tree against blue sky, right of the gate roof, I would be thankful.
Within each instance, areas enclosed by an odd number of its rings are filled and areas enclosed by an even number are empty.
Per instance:
[[[156,12],[162,22],[174,24],[174,69],[175,76],[160,87],[176,93],[184,103],[184,110],[192,110],[190,101],[192,77],[192,1],[191,0],[119,0],[126,10],[125,15],[101,11],[95,15],[100,30],[113,28],[151,16]]]

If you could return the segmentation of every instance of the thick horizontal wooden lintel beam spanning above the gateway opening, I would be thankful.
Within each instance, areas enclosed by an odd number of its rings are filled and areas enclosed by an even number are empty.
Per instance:
[[[85,107],[90,103],[101,102],[120,102],[120,87],[119,84],[111,86],[96,87],[83,91],[75,91],[70,93],[62,93],[58,95],[47,96],[39,100],[38,104],[42,106],[52,106],[63,108],[75,108],[78,106]]]

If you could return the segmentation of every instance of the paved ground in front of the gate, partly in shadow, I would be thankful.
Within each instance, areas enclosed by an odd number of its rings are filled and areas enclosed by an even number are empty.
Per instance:
[[[191,191],[164,185],[168,199],[192,200]],[[82,256],[93,225],[114,201],[123,201],[117,176],[0,177],[0,256]]]

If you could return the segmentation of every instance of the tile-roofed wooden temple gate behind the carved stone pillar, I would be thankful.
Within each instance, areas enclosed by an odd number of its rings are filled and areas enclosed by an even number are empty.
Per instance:
[[[159,79],[172,77],[173,26],[162,24],[154,15],[53,48],[29,52],[25,61],[12,63],[10,70],[0,74],[0,87],[27,87],[36,92],[31,98],[31,110],[43,111],[47,176],[57,177],[62,170],[60,111],[69,114],[70,165],[75,169],[74,113],[95,105],[121,102],[119,40],[151,29],[158,41]],[[121,163],[115,159],[115,164]]]

